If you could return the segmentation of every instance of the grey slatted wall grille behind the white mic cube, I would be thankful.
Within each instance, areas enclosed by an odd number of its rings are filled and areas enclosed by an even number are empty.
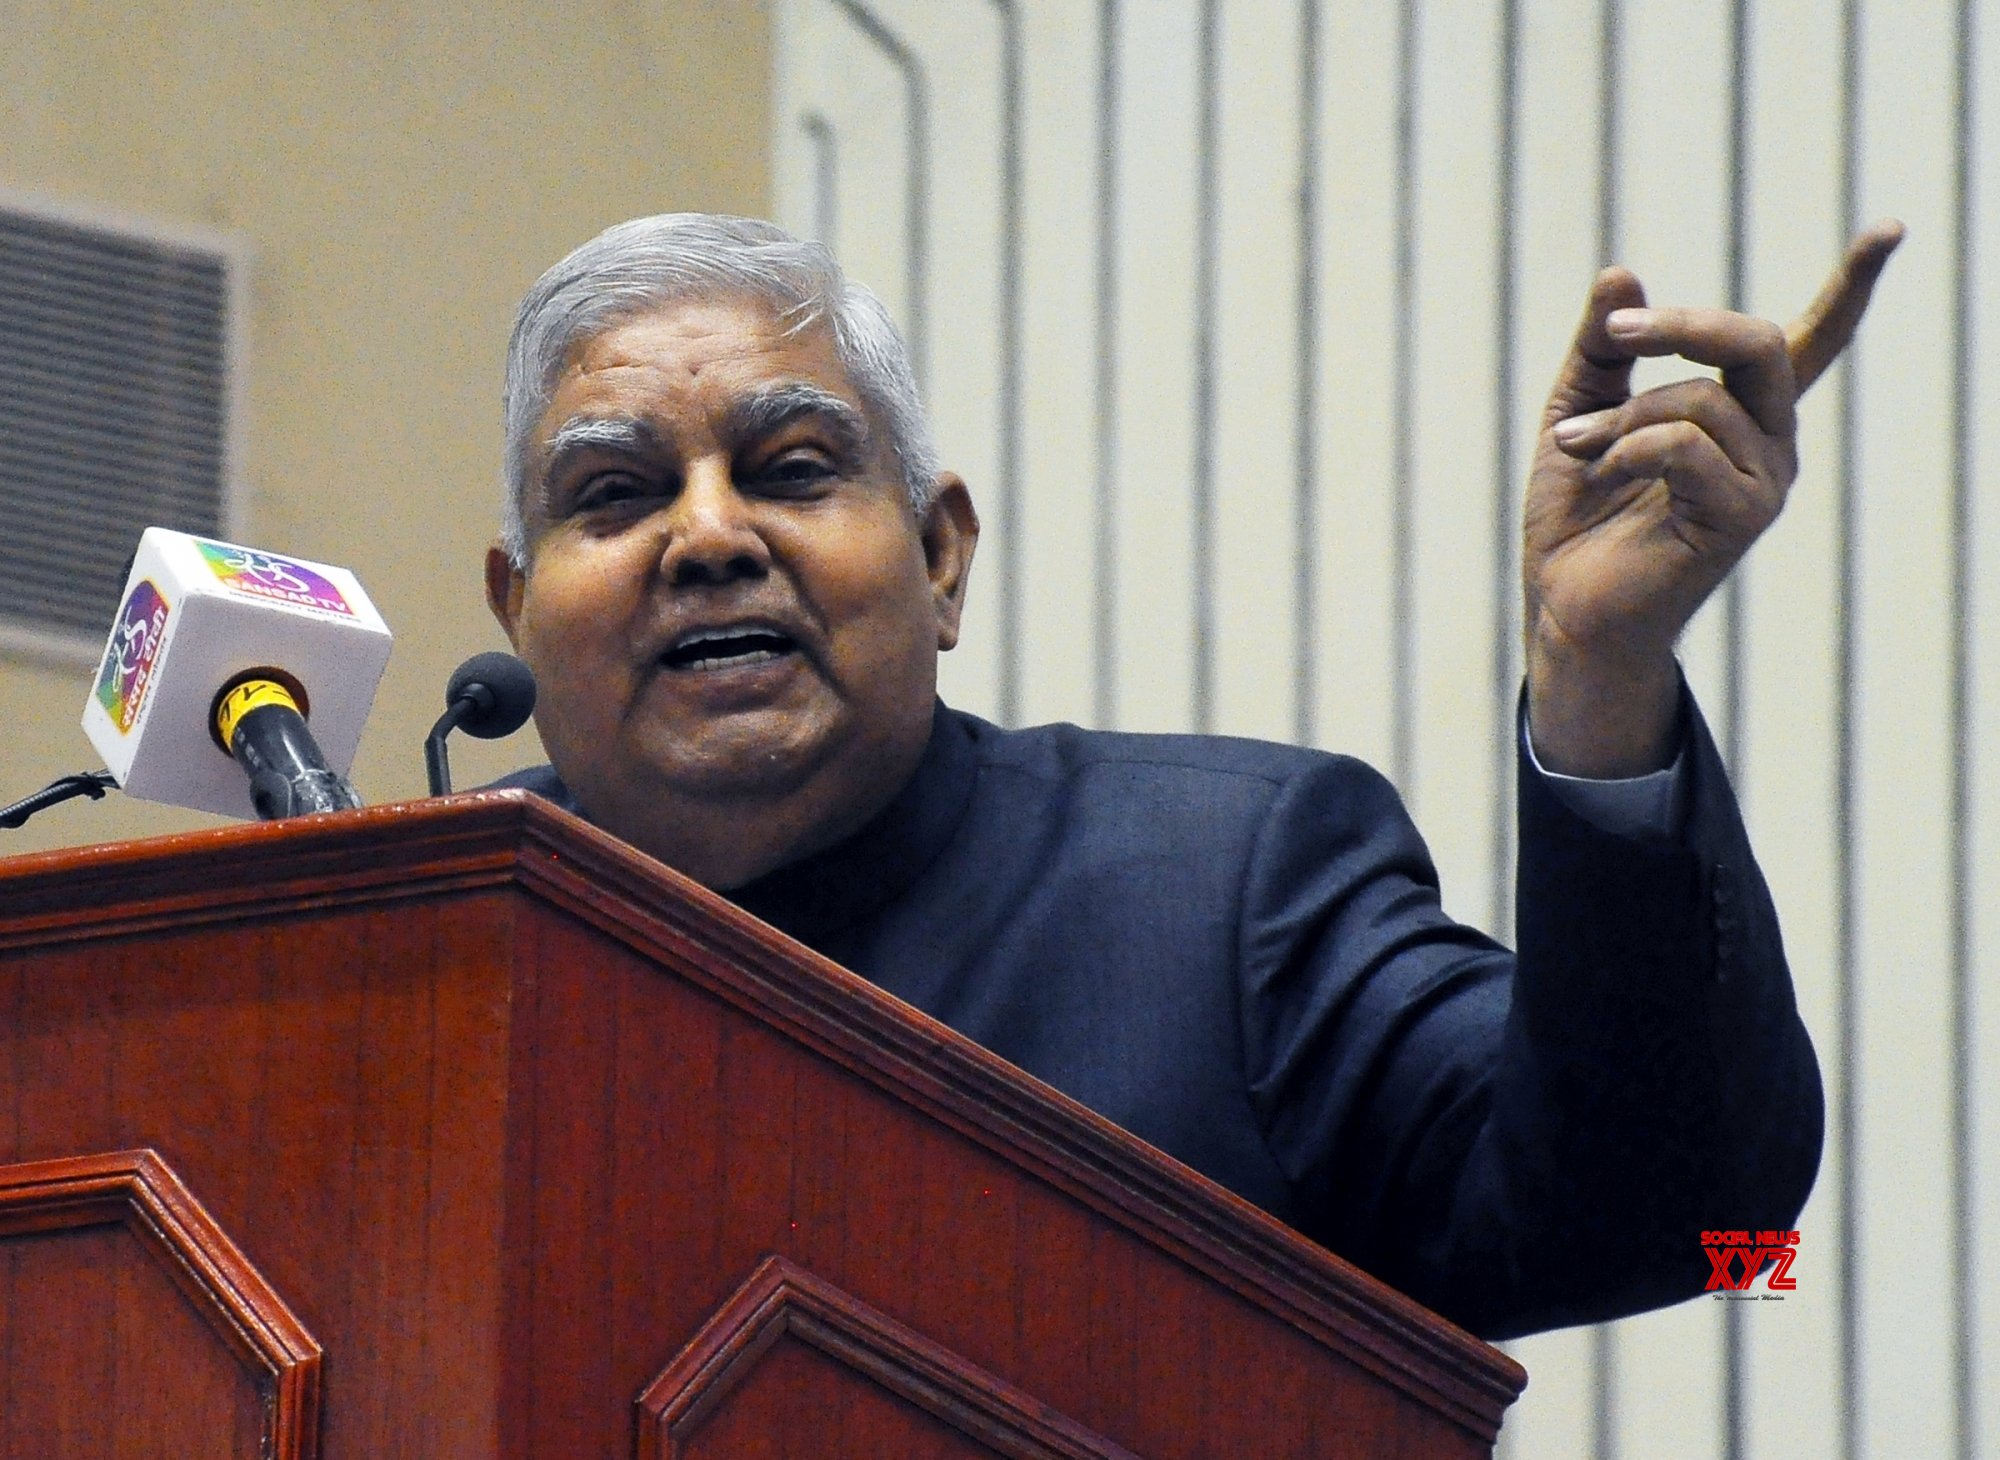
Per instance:
[[[224,530],[232,266],[0,206],[0,626],[94,650],[144,528]]]

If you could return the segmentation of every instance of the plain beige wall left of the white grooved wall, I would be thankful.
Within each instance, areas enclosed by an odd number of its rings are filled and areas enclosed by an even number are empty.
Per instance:
[[[248,248],[242,538],[360,574],[396,650],[354,778],[370,802],[422,794],[444,678],[502,646],[480,558],[514,304],[618,218],[766,210],[764,6],[0,0],[0,190]],[[88,678],[0,650],[0,802],[98,764],[78,730]],[[460,784],[540,758],[528,732],[454,744]],[[206,820],[72,804],[0,834],[0,854]]]

